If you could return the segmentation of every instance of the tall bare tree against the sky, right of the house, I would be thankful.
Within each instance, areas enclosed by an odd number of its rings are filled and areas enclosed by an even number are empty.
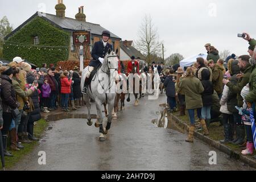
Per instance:
[[[145,15],[139,30],[139,40],[135,47],[146,56],[147,63],[151,63],[152,55],[160,55],[163,42],[159,41],[158,30],[152,23],[150,15]]]

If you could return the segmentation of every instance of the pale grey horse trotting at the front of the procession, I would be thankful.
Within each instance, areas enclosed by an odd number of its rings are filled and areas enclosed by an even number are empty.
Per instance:
[[[114,108],[115,95],[117,93],[117,85],[115,84],[115,77],[118,75],[118,58],[117,51],[113,52],[109,49],[108,54],[105,56],[101,67],[97,70],[96,74],[92,78],[92,82],[88,85],[88,91],[83,94],[84,101],[88,109],[88,122],[89,126],[92,126],[92,118],[90,115],[91,103],[90,100],[96,102],[97,118],[100,127],[100,141],[105,141],[106,134],[110,129],[112,123],[112,111]],[[88,73],[88,67],[82,72],[81,89],[84,87],[85,77]],[[108,123],[106,128],[103,127],[104,116],[102,114],[102,105],[108,104]],[[96,126],[96,125],[95,125]]]

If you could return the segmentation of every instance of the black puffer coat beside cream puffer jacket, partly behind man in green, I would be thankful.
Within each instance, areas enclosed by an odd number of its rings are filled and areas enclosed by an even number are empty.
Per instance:
[[[232,77],[230,79],[230,82],[232,82],[232,84],[236,85],[237,81],[238,81],[237,74],[240,73],[240,68],[238,66],[237,60],[233,61],[232,65],[231,65],[231,71],[232,71]],[[228,111],[230,111],[230,113],[238,113],[238,110],[235,107],[238,105],[237,93],[229,91],[228,100],[227,100],[226,104],[228,106]]]

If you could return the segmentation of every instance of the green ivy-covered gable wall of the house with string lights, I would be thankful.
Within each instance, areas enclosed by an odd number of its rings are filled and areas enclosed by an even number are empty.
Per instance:
[[[20,45],[34,45],[35,36],[39,38],[38,46],[69,47],[70,45],[68,32],[56,28],[43,18],[36,17],[7,39],[6,44],[3,45],[4,59],[12,61],[14,57],[19,56],[38,67],[41,67],[42,63],[56,64],[60,60],[68,60],[69,48],[39,48]]]

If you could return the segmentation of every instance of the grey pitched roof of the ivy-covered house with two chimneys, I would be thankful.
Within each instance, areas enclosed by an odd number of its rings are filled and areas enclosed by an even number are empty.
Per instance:
[[[76,20],[76,19],[73,19],[73,18],[67,18],[67,17],[60,18],[56,15],[42,13],[42,12],[37,11],[28,20],[26,20],[26,22],[24,22],[18,28],[16,28],[13,32],[11,32],[11,34],[7,35],[5,37],[5,40],[8,39],[13,34],[15,34],[16,31],[19,31],[20,28],[22,28],[28,22],[30,22],[31,19],[33,19],[35,17],[38,17],[38,16],[40,16],[43,19],[47,20],[48,22],[54,24],[55,26],[57,26],[59,28],[62,28],[64,30],[67,30],[67,31],[80,30],[81,27],[82,27],[82,29],[84,29],[84,30],[85,29],[90,30],[91,34],[93,34],[93,35],[101,36],[102,31],[106,30],[104,27],[101,27],[100,24],[94,24],[94,23],[89,23],[89,22],[81,22],[79,20]],[[119,36],[113,34],[112,32],[110,32],[110,34],[111,34],[110,35],[111,38],[121,40],[121,38],[119,38]]]

